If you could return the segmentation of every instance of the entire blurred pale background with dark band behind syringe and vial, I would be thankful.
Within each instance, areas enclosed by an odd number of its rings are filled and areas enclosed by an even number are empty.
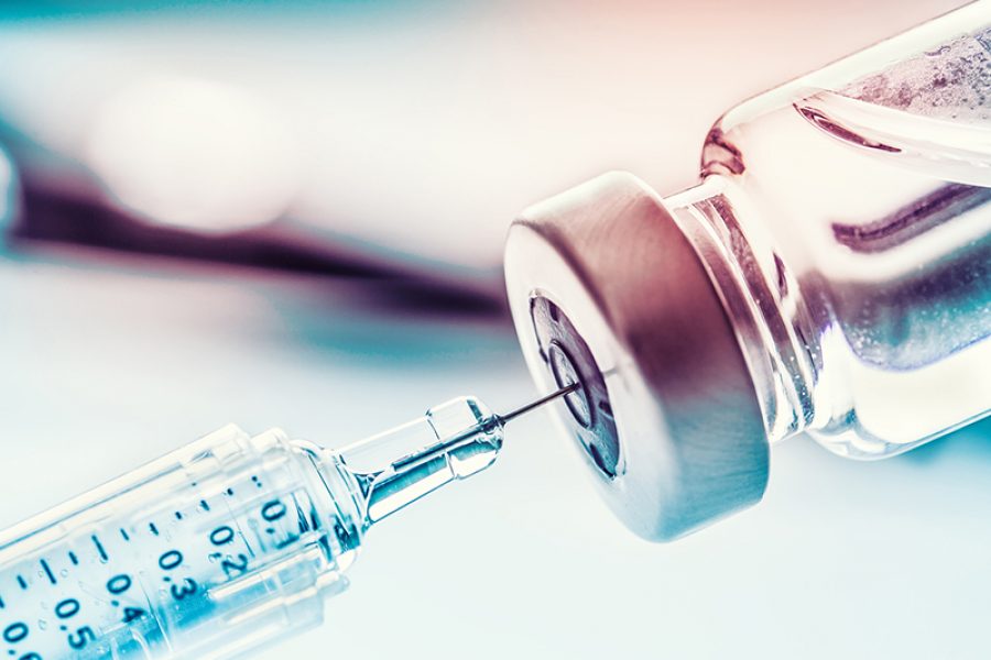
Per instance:
[[[3,3],[0,526],[228,421],[334,446],[525,400],[514,215],[607,169],[682,189],[723,110],[958,4]],[[987,657],[989,422],[872,464],[789,441],[762,506],[663,547],[516,424],[261,657]]]

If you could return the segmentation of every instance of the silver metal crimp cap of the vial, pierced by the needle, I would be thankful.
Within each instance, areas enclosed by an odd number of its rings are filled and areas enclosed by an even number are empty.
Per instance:
[[[666,541],[760,501],[769,444],[753,382],[650,187],[607,174],[531,207],[509,232],[505,275],[537,386],[585,385],[555,414],[630,529]]]

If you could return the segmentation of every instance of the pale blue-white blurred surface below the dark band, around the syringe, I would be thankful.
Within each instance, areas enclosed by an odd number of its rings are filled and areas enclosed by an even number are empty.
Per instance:
[[[366,297],[0,260],[0,526],[227,421],[339,443],[456,394],[532,394],[508,323]],[[873,464],[791,441],[763,505],[664,547],[613,521],[566,444],[514,422],[489,472],[373,530],[322,628],[260,657],[988,657],[991,425]]]

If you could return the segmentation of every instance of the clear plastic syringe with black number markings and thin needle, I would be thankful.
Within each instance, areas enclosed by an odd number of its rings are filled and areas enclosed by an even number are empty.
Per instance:
[[[323,619],[364,532],[484,470],[473,397],[339,450],[227,426],[0,532],[0,656],[243,657]]]

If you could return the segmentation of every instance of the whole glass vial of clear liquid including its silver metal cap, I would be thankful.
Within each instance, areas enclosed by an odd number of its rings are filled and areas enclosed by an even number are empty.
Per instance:
[[[631,527],[673,538],[755,502],[766,446],[799,432],[873,459],[988,415],[991,2],[738,106],[701,174],[666,198],[600,177],[507,246],[538,383],[551,349],[605,380],[609,424],[559,413]]]

